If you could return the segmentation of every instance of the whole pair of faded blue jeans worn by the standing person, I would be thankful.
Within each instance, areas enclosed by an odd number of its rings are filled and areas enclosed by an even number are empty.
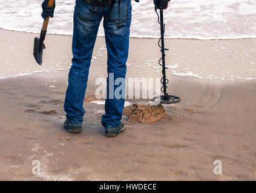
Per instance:
[[[96,13],[90,9],[93,6],[84,0],[76,0],[74,8],[74,31],[73,31],[73,59],[68,74],[68,88],[65,97],[64,110],[68,121],[82,125],[85,110],[83,108],[85,90],[94,43],[97,37],[100,21],[103,19],[105,40],[108,51],[108,78],[107,97],[105,100],[105,114],[102,116],[102,125],[105,128],[115,127],[122,119],[124,98],[109,98],[109,75],[114,74],[116,78],[125,78],[126,61],[128,58],[129,36],[131,25],[131,0],[116,1],[111,10],[110,5],[94,7]],[[119,14],[120,11],[120,14]],[[120,25],[122,25],[121,28]],[[119,27],[118,27],[119,26]],[[119,85],[114,85],[114,89]]]

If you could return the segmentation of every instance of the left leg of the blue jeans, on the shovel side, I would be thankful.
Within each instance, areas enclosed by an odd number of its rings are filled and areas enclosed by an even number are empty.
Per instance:
[[[73,59],[68,74],[68,88],[64,103],[68,121],[79,125],[82,124],[85,114],[83,108],[85,90],[94,43],[102,20],[102,10],[93,14],[90,11],[91,8],[91,5],[84,0],[76,0],[72,43]]]

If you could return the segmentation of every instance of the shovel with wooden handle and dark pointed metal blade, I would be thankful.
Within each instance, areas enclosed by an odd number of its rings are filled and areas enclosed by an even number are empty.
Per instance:
[[[52,7],[54,4],[54,0],[49,0],[48,1],[48,6]],[[45,39],[45,35],[47,33],[47,26],[48,26],[48,22],[49,22],[50,16],[47,17],[47,19],[45,19],[44,24],[42,26],[42,30],[41,30],[41,34],[40,34],[40,38],[35,37],[34,38],[34,59],[36,59],[36,62],[39,65],[42,65],[42,52],[44,51],[45,45],[44,45],[44,39]]]

